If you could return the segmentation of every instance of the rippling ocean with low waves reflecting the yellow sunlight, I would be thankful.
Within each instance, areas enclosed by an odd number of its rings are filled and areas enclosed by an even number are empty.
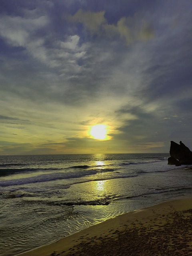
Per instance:
[[[169,154],[0,156],[0,255],[48,244],[119,214],[192,194]]]

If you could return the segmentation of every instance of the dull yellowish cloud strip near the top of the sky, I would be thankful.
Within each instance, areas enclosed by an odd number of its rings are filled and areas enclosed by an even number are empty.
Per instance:
[[[136,40],[149,40],[154,37],[154,29],[149,21],[142,20],[141,17],[122,17],[116,24],[109,24],[105,18],[105,12],[91,12],[79,9],[76,14],[71,16],[74,22],[84,25],[91,36],[107,36],[113,38],[120,36],[126,44],[131,44]]]

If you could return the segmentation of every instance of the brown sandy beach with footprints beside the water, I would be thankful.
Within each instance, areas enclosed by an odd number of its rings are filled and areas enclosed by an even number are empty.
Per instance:
[[[128,212],[18,255],[192,255],[192,197],[180,197]]]

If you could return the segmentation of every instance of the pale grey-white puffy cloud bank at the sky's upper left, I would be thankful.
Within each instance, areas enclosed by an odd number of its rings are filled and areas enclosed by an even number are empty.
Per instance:
[[[49,14],[42,14],[38,7],[26,10],[23,16],[0,16],[0,36],[8,45],[22,47],[25,54],[50,68],[58,68],[60,74],[81,72],[77,61],[86,51],[78,46],[80,37],[62,38],[54,31],[44,35],[49,26]]]

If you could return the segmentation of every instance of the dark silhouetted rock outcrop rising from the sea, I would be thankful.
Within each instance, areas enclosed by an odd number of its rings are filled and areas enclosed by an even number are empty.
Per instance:
[[[176,166],[192,164],[192,152],[182,141],[180,141],[180,144],[171,141],[170,156],[171,157],[168,158],[168,164],[175,164]]]

